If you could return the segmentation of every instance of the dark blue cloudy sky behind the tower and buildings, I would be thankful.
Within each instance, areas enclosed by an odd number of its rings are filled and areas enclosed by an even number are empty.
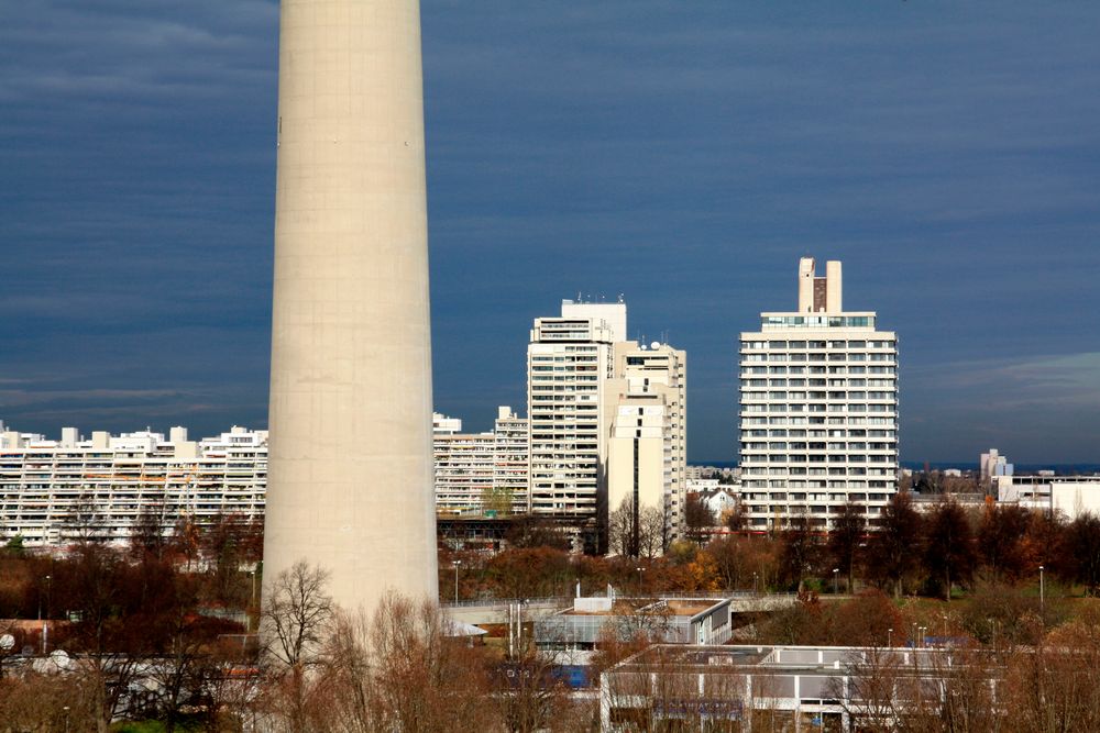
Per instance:
[[[422,5],[437,407],[625,293],[730,459],[798,258],[902,348],[902,458],[1100,455],[1100,5]],[[277,5],[0,2],[0,419],[266,423]]]

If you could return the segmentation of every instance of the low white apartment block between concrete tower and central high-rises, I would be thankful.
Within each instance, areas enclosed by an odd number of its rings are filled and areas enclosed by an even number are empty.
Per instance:
[[[508,407],[499,408],[491,433],[437,432],[437,513],[527,513],[527,420]]]

